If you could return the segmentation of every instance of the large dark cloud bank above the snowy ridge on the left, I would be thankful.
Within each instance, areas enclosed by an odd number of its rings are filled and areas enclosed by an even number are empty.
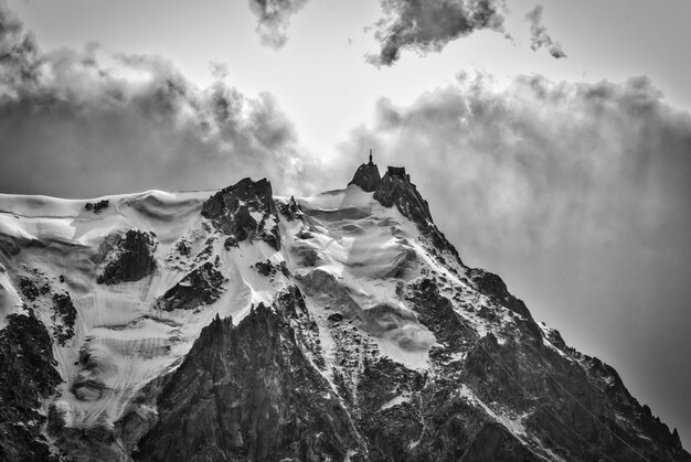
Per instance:
[[[221,187],[245,175],[281,191],[313,164],[270,95],[221,79],[199,88],[161,57],[95,44],[41,52],[1,7],[1,192]]]

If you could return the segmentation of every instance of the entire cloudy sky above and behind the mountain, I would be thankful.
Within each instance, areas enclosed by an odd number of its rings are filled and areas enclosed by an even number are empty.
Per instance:
[[[691,2],[0,0],[0,192],[406,165],[467,265],[691,447]]]

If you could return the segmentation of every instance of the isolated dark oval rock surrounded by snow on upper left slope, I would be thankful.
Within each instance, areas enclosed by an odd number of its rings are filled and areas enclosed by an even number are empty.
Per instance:
[[[129,229],[106,257],[103,273],[96,282],[106,286],[138,281],[157,268],[153,255],[158,243],[152,233]]]

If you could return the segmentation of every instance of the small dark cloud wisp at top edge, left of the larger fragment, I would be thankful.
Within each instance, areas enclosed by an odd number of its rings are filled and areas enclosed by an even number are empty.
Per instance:
[[[257,17],[257,33],[264,45],[280,49],[288,41],[290,17],[297,13],[307,0],[248,0],[249,9]]]

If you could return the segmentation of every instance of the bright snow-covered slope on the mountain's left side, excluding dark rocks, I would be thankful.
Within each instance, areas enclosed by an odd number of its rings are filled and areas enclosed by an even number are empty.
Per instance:
[[[111,425],[131,396],[189,351],[200,330],[211,320],[234,315],[242,319],[252,302],[264,300],[270,284],[248,269],[269,256],[263,246],[220,251],[215,243],[206,259],[222,257],[227,278],[216,303],[202,310],[161,312],[157,298],[180,281],[199,260],[180,261],[174,244],[191,244],[191,255],[202,250],[209,233],[199,215],[210,192],[141,194],[66,201],[52,197],[0,195],[0,236],[3,241],[25,247],[18,255],[2,255],[3,319],[21,311],[19,280],[29,278],[46,284],[51,293],[68,292],[77,310],[75,334],[64,346],[54,344],[54,355],[64,384],[56,404],[67,411],[71,427]],[[99,214],[85,211],[87,202],[109,201]],[[104,241],[128,229],[153,232],[159,241],[157,270],[139,281],[116,286],[96,283]],[[23,243],[23,244],[22,244]],[[206,260],[204,259],[204,260]],[[33,271],[40,271],[38,275]],[[61,275],[64,282],[61,282]],[[36,311],[51,325],[50,298],[38,300]],[[88,357],[79,362],[79,357]],[[86,364],[83,364],[86,363]],[[74,390],[75,382],[93,380],[94,387]]]

